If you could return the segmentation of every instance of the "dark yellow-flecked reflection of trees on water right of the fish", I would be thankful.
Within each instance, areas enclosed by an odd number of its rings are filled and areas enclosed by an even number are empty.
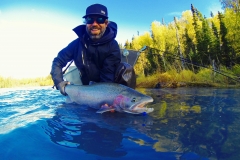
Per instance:
[[[234,141],[240,137],[230,129],[239,123],[239,90],[163,89],[151,90],[151,94],[156,102],[152,133],[172,139],[166,141],[168,146],[174,143],[172,149],[214,159],[240,157]],[[163,124],[165,129],[159,127]],[[156,150],[163,151],[161,147]]]

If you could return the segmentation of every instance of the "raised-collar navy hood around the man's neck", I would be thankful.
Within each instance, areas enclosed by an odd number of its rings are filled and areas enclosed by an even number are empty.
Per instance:
[[[73,31],[81,39],[85,39],[84,37],[86,37],[87,41],[89,41],[90,44],[92,44],[92,45],[99,45],[99,44],[107,43],[107,42],[109,42],[109,41],[111,41],[111,40],[116,38],[116,36],[117,36],[117,24],[115,22],[109,21],[105,33],[97,41],[92,41],[89,38],[89,36],[88,36],[88,34],[86,32],[86,25],[79,25],[79,26],[75,27],[73,29]]]

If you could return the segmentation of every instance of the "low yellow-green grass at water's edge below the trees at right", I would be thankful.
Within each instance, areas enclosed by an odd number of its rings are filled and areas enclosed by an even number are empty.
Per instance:
[[[231,75],[228,70],[223,72],[224,74]],[[230,76],[229,76],[230,77]],[[138,75],[137,87],[140,88],[155,88],[158,87],[240,87],[240,81],[234,81],[233,79],[224,75],[213,72],[211,69],[201,69],[198,73],[193,73],[190,70],[182,70],[177,72],[176,70],[169,70],[165,73],[156,73],[145,77],[144,75]],[[232,77],[236,79],[235,77]],[[237,80],[237,79],[236,79]]]

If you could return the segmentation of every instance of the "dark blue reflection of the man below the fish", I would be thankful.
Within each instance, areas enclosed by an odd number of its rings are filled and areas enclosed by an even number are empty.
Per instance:
[[[61,146],[78,148],[100,156],[122,157],[127,154],[122,140],[131,139],[124,132],[129,127],[144,131],[151,124],[148,116],[95,112],[95,109],[86,106],[64,104],[47,121],[49,127],[46,128],[46,133],[54,143]]]

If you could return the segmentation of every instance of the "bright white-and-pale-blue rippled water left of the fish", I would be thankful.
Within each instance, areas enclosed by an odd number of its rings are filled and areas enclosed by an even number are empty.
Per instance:
[[[50,87],[0,89],[0,134],[53,117],[62,98]]]

